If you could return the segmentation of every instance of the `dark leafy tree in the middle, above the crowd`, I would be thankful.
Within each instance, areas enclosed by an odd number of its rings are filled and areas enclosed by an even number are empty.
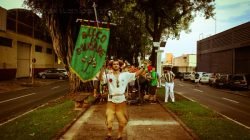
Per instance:
[[[143,26],[145,16],[133,10],[136,3],[135,1],[113,1],[112,22],[117,23],[117,26],[111,30],[111,38],[114,36],[113,44],[112,39],[110,46],[112,48],[109,53],[115,56],[128,60],[130,63],[138,64],[135,58],[139,54],[145,57],[145,49],[149,44],[149,34]],[[136,61],[134,62],[133,59]]]

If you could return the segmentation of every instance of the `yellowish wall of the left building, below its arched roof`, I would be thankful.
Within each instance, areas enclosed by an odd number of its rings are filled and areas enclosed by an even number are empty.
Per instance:
[[[7,74],[7,75],[12,75],[10,76],[12,78],[28,77],[30,71],[29,70],[27,71],[26,64],[22,62],[28,59],[28,65],[31,68],[33,58],[36,59],[36,63],[34,64],[34,66],[35,69],[37,69],[38,71],[40,71],[39,69],[43,70],[46,68],[61,67],[61,65],[58,65],[57,61],[55,61],[55,53],[53,51],[52,54],[46,53],[46,48],[53,49],[51,44],[9,31],[0,32],[0,36],[12,39],[12,47],[6,47],[0,45],[0,69],[2,73],[3,71],[5,71],[5,73],[8,73],[6,71],[12,71],[10,74]],[[30,49],[21,49],[23,48],[23,46],[20,45],[22,43],[18,42],[29,44]],[[36,52],[35,45],[42,46],[43,47],[42,52]],[[27,58],[27,53],[29,54],[28,58]],[[25,72],[21,72],[22,74],[17,73],[17,76],[13,76],[13,70],[23,71],[22,69],[24,69]],[[6,79],[6,78],[0,78],[0,79]]]

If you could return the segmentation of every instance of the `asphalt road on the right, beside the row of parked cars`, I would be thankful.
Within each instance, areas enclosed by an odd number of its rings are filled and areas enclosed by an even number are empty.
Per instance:
[[[250,92],[221,90],[208,85],[195,87],[193,83],[179,80],[175,81],[175,92],[250,129]]]

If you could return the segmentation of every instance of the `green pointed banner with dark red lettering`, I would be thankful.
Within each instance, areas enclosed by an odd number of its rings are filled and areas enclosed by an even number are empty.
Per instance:
[[[81,26],[71,60],[71,70],[82,81],[91,80],[102,68],[109,43],[109,29]]]

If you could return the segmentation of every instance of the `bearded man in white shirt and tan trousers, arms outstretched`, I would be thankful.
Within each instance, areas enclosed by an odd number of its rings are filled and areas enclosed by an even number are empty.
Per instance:
[[[112,127],[115,115],[119,122],[117,139],[121,140],[123,129],[128,122],[127,103],[125,98],[126,87],[129,82],[135,80],[135,77],[139,76],[144,71],[144,67],[135,73],[130,73],[121,71],[123,62],[120,60],[113,60],[109,64],[113,72],[103,73],[104,69],[102,69],[102,76],[100,76],[100,80],[107,83],[109,89],[106,107],[106,125],[108,128],[106,140],[112,139]]]

